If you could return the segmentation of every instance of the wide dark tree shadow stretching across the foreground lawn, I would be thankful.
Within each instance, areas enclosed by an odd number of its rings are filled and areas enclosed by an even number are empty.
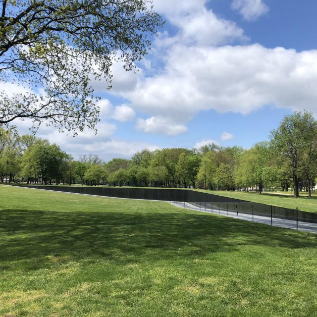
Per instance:
[[[316,238],[308,237],[314,235],[199,212],[0,211],[1,262],[33,259],[28,269],[44,267],[47,257],[170,260],[189,243],[195,248],[185,257],[233,252],[241,245],[316,249]]]

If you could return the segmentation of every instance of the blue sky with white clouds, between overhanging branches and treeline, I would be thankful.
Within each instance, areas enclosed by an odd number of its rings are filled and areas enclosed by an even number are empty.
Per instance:
[[[75,159],[130,158],[144,148],[191,149],[208,142],[250,148],[284,115],[317,114],[316,0],[154,0],[166,24],[127,73],[112,67],[98,134],[76,138],[41,127]],[[27,123],[19,126],[26,131]]]

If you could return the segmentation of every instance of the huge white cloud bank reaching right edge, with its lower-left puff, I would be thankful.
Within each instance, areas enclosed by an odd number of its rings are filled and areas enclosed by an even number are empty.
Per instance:
[[[164,72],[144,78],[124,96],[150,115],[139,120],[139,129],[175,135],[202,110],[248,114],[273,104],[316,113],[316,86],[317,51],[175,45]]]

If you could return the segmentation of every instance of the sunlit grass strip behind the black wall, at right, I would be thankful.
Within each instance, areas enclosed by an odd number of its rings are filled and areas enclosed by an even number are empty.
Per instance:
[[[195,189],[203,193],[210,193],[214,195],[226,196],[231,198],[243,199],[250,202],[262,203],[272,206],[279,206],[284,208],[296,209],[301,211],[309,211],[317,213],[317,194],[313,194],[312,198],[308,198],[308,195],[304,193],[300,194],[300,197],[294,198],[291,196],[291,192],[286,194],[284,192],[279,193],[265,193],[260,194],[259,192],[229,192],[220,190],[205,190]]]

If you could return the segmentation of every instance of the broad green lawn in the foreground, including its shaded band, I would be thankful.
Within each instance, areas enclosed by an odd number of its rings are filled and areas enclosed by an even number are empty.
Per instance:
[[[317,236],[0,186],[0,316],[317,316]]]

